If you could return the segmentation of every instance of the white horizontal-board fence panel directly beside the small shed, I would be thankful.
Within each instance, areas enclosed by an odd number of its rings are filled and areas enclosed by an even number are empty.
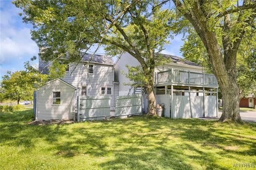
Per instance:
[[[78,96],[77,121],[110,119],[110,96]]]

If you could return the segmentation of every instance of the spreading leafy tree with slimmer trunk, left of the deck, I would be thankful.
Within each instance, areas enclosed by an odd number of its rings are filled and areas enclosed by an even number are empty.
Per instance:
[[[170,43],[175,13],[163,10],[169,2],[158,0],[16,0],[23,21],[34,26],[32,39],[42,49],[45,61],[78,62],[81,51],[104,45],[110,55],[124,50],[141,65],[142,84],[148,94],[148,115],[156,114],[154,68],[160,63],[155,52]],[[97,47],[97,49],[98,49]],[[161,58],[160,56],[158,58]],[[158,59],[158,61],[164,60]]]

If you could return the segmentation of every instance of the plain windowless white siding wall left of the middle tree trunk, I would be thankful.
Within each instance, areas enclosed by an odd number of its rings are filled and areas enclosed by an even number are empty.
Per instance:
[[[123,85],[123,83],[131,82],[128,78],[125,77],[125,75],[122,74],[122,71],[128,73],[128,69],[125,67],[125,65],[138,66],[140,63],[137,59],[125,51],[122,53],[122,55],[120,55],[115,65],[115,71],[119,82],[119,95],[124,95],[124,93],[127,95],[129,89],[131,88],[130,86]]]

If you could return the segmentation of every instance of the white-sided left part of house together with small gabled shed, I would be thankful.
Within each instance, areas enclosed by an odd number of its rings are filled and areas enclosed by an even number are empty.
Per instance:
[[[39,72],[47,74],[50,64],[50,61],[44,62],[39,58]],[[73,119],[78,95],[110,95],[110,109],[115,108],[119,83],[114,79],[112,57],[92,57],[84,53],[79,63],[68,66],[63,78],[50,81],[38,89],[36,103],[39,105],[34,109],[37,120]],[[80,94],[78,88],[81,89]]]

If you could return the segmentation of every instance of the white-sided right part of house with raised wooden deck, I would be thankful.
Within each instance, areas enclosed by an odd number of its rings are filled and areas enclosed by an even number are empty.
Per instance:
[[[166,117],[189,118],[218,115],[218,82],[214,75],[204,73],[204,68],[192,61],[173,55],[162,55],[170,63],[155,68],[154,87],[156,95],[170,95],[170,108],[166,108]],[[125,75],[126,65],[139,66],[137,59],[122,52],[115,63],[116,79],[119,81],[119,95],[138,94],[140,87],[131,87],[123,83],[132,83]],[[159,103],[160,104],[160,103]],[[144,111],[147,102],[144,100]],[[187,113],[187,114],[186,114]]]

